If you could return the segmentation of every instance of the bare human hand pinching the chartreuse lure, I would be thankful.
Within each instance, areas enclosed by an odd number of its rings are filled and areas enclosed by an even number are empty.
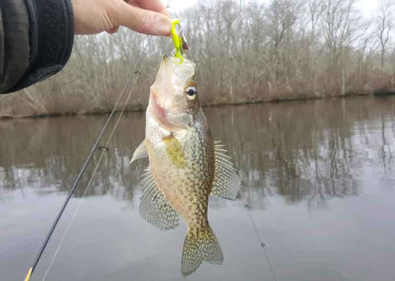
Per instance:
[[[169,36],[171,20],[160,0],[72,0],[76,34],[112,34],[119,26]]]

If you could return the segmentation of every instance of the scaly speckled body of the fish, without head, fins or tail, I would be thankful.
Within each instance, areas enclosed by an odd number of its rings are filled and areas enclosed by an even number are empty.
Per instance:
[[[174,163],[166,144],[150,145],[150,169],[158,188],[171,205],[183,215],[190,231],[197,235],[207,221],[208,195],[214,177],[214,141],[205,118],[173,136],[184,151],[185,165]],[[159,137],[159,140],[163,136]]]

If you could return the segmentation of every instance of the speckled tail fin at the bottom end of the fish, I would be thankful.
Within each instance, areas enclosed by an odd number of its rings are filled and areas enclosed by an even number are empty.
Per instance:
[[[221,246],[210,226],[197,235],[187,233],[182,249],[182,275],[187,277],[192,274],[203,260],[213,264],[222,264],[224,261]]]

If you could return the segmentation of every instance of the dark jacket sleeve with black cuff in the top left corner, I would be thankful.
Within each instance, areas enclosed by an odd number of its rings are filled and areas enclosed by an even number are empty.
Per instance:
[[[60,71],[73,41],[71,0],[0,0],[0,94]]]

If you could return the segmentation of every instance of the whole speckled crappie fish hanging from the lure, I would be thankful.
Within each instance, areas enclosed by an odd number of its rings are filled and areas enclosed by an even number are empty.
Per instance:
[[[163,56],[151,86],[145,140],[130,163],[149,157],[141,182],[140,214],[161,230],[187,223],[181,272],[202,261],[222,264],[223,253],[207,219],[208,196],[235,199],[240,178],[219,141],[214,141],[200,108],[195,63]]]

